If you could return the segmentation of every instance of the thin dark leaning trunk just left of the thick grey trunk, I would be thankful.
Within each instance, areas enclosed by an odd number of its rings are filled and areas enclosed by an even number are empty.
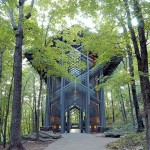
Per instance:
[[[11,79],[11,85],[9,88],[9,93],[8,93],[8,101],[7,101],[7,106],[6,106],[6,116],[5,116],[5,121],[4,121],[4,135],[3,135],[3,147],[6,147],[6,133],[7,133],[7,121],[8,121],[8,115],[9,115],[9,106],[10,106],[10,98],[11,98],[11,92],[12,92],[12,85],[13,85],[13,77]]]

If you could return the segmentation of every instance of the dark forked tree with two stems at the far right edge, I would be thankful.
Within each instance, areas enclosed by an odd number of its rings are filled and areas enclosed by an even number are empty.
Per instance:
[[[138,45],[137,37],[131,23],[131,13],[129,9],[128,0],[124,0],[125,10],[127,14],[128,28],[131,34],[131,39],[134,46],[135,55],[138,62],[138,71],[140,77],[141,93],[144,102],[144,112],[145,112],[145,124],[146,124],[146,141],[147,149],[150,149],[150,81],[148,77],[148,51],[147,51],[147,40],[145,37],[145,23],[141,12],[139,2],[133,0],[134,15],[138,21],[138,40],[140,43],[140,48]]]

